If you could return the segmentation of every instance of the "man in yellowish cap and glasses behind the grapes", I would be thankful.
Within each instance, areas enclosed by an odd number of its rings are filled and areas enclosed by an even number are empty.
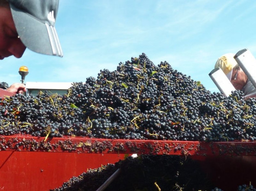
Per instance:
[[[242,90],[244,92],[244,96],[254,93],[256,94],[254,85],[250,82],[244,71],[238,65],[237,61],[234,59],[234,56],[235,54],[232,53],[227,53],[220,56],[215,63],[214,68],[220,67],[234,88],[236,90]]]

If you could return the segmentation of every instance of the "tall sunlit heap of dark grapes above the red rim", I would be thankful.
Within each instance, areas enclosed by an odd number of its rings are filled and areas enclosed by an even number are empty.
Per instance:
[[[209,79],[210,80],[210,79]],[[0,101],[0,135],[137,140],[256,140],[256,99],[225,97],[143,53],[73,83],[63,96]]]

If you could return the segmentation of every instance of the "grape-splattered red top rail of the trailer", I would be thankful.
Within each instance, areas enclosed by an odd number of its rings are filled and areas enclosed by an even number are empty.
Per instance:
[[[256,156],[256,141],[199,142],[174,140],[109,140],[85,137],[0,136],[0,151]]]

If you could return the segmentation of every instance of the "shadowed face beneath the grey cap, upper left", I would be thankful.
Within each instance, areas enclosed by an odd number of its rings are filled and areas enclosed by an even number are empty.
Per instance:
[[[10,8],[0,6],[0,60],[12,55],[20,58],[25,49],[18,38]]]

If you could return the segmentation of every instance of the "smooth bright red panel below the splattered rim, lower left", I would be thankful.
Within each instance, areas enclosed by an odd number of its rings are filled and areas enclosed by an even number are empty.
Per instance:
[[[87,169],[124,159],[124,154],[0,152],[1,191],[49,191]]]

